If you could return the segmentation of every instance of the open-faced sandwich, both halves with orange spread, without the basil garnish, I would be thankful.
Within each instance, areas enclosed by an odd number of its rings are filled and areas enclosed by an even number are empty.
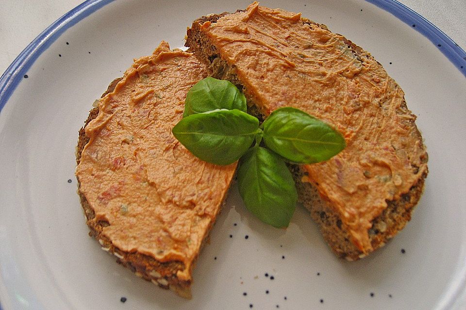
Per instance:
[[[200,160],[172,133],[186,94],[208,76],[237,86],[261,121],[291,107],[341,133],[338,155],[287,166],[336,255],[362,258],[410,220],[427,153],[403,91],[368,52],[256,2],[195,20],[186,47],[162,42],[135,60],[80,131],[76,176],[87,225],[119,263],[190,296],[192,268],[237,166]]]

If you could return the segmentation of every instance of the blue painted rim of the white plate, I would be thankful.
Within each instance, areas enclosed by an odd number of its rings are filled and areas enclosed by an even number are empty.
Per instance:
[[[91,15],[106,4],[114,0],[86,0],[64,16],[57,19],[47,29],[42,31],[11,63],[0,78],[0,112],[5,106],[10,96],[15,91],[17,85],[24,78],[29,68],[35,60],[50,45],[58,39],[63,32],[72,27],[86,16]],[[366,0],[379,8],[391,13],[399,20],[416,29],[428,38],[438,49],[452,62],[458,70],[466,76],[466,52],[449,38],[443,31],[438,29],[430,21],[417,14],[397,0]],[[456,297],[465,288],[466,276],[463,276],[456,283],[456,289],[446,296],[444,301],[437,307],[438,309],[449,309]],[[0,310],[2,310],[0,304]]]

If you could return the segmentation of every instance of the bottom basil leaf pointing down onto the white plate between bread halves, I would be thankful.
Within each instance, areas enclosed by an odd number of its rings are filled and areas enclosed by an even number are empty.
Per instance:
[[[298,192],[285,163],[277,154],[255,146],[242,158],[238,188],[246,208],[274,227],[287,227],[295,211]]]

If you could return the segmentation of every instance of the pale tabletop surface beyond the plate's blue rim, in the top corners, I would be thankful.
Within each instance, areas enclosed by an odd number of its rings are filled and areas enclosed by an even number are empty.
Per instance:
[[[466,49],[466,0],[399,0]],[[81,0],[0,0],[0,73],[45,28]],[[266,0],[262,1],[266,5]]]

